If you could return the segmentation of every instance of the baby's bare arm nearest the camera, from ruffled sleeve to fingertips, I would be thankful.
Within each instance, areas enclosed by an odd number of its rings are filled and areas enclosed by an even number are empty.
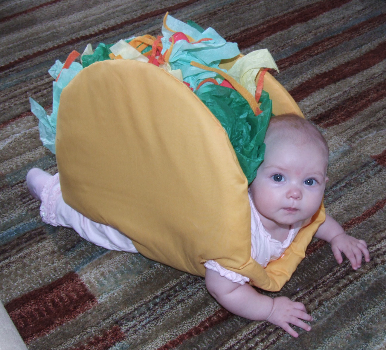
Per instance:
[[[302,303],[291,301],[285,296],[272,299],[258,293],[249,284],[234,283],[209,269],[205,273],[205,283],[209,293],[218,303],[235,315],[249,320],[267,320],[295,338],[298,337],[298,333],[289,326],[289,323],[306,331],[311,329],[302,321],[312,321]]]

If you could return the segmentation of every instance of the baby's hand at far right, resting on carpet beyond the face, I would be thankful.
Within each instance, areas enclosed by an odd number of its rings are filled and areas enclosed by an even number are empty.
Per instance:
[[[356,239],[346,233],[335,236],[330,241],[332,253],[340,264],[343,261],[342,253],[349,259],[354,270],[362,265],[362,254],[366,262],[370,261],[370,254],[367,250],[367,244],[361,239]]]

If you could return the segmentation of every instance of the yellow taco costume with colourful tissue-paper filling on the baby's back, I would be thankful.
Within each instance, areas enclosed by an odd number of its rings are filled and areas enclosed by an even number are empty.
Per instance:
[[[173,21],[166,22],[164,28],[170,31]],[[192,28],[205,37],[212,33]],[[190,34],[186,35],[189,42],[183,40],[180,49],[197,41],[205,44],[203,38]],[[180,41],[174,43],[173,38],[168,51],[167,63],[175,70],[181,57],[173,67],[173,57],[178,54],[172,56],[172,45]],[[218,41],[223,48],[225,44]],[[152,60],[161,57],[162,66],[162,55],[167,53],[165,47],[157,52],[158,44],[154,40],[149,55]],[[141,52],[151,52],[146,48]],[[260,106],[256,100],[248,101],[248,96],[247,100],[242,97],[242,102],[233,98],[240,94],[227,84],[235,86],[237,82],[229,75],[223,79],[222,69],[232,67],[240,58],[235,56],[209,62],[210,69],[202,68],[205,64],[201,62],[208,63],[205,59],[189,67],[185,64],[183,78],[192,69],[205,75],[201,79],[191,74],[185,84],[176,74],[135,59],[101,60],[81,69],[60,95],[55,142],[60,185],[69,206],[126,234],[137,251],[152,260],[199,276],[205,275],[203,263],[215,260],[249,278],[252,285],[277,291],[304,258],[325,219],[324,208],[321,204],[282,258],[266,268],[251,258],[248,184],[262,161],[269,117],[271,112],[301,112],[269,73],[260,80],[264,73],[256,77],[265,91],[259,96]],[[198,87],[205,79],[216,83]],[[223,80],[225,84],[217,87]],[[213,114],[221,110],[219,104],[224,105],[216,101],[221,98],[230,106],[227,111],[246,106],[245,113],[237,112],[247,121],[244,129],[239,127],[241,132],[233,132],[232,121],[223,126],[222,117]],[[259,118],[261,113],[256,111],[268,111],[269,116]],[[240,134],[249,134],[247,146]]]

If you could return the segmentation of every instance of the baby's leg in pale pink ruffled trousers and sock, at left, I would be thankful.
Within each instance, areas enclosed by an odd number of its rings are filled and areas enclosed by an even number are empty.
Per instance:
[[[137,253],[132,241],[111,226],[96,223],[64,203],[59,174],[52,176],[33,168],[27,174],[27,186],[32,196],[40,200],[42,220],[53,226],[73,228],[82,238],[110,250]]]

